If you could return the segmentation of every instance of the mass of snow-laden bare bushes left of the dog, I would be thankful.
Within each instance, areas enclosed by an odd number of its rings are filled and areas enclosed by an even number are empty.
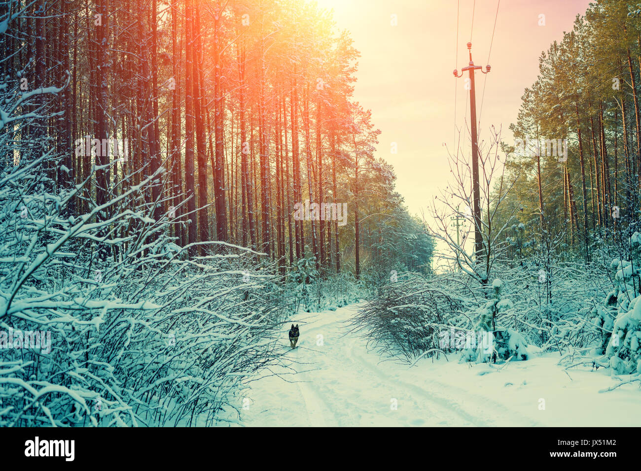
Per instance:
[[[0,170],[0,426],[214,423],[278,357],[283,293],[247,249],[185,256],[145,200],[162,169],[79,213],[52,164]]]

